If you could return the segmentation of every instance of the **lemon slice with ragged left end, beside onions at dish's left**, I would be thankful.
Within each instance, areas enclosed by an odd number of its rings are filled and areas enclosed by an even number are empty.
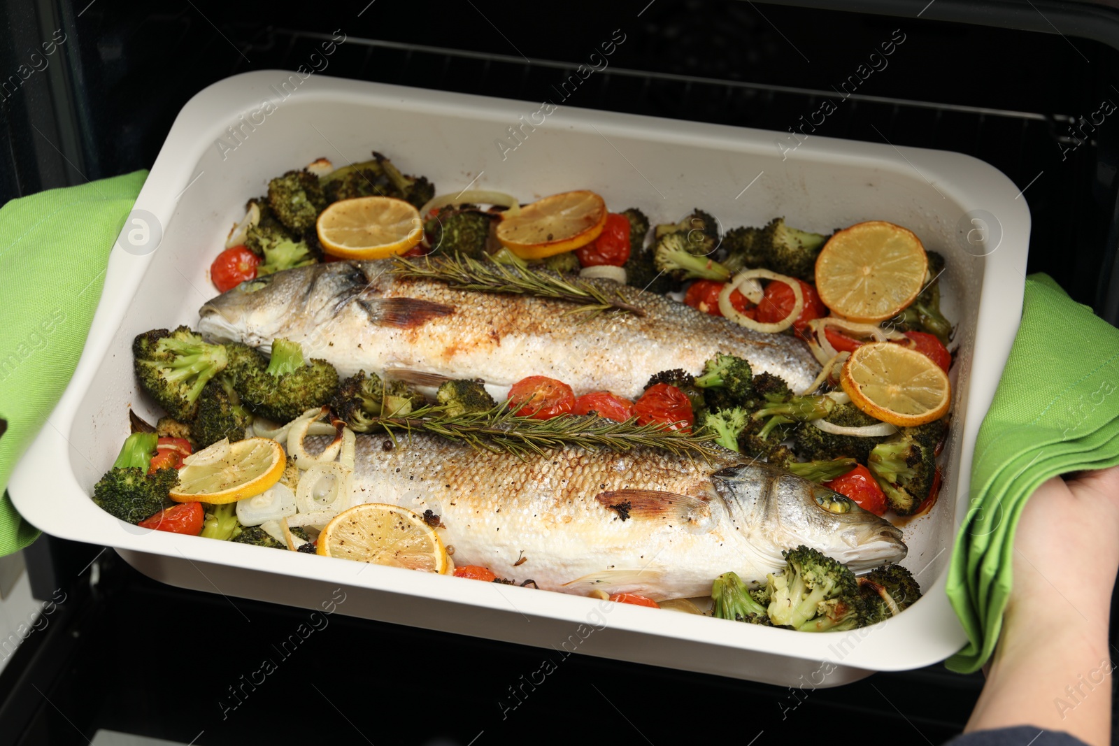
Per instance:
[[[184,461],[170,498],[210,504],[252,498],[280,481],[285,463],[283,448],[271,438],[220,440]]]

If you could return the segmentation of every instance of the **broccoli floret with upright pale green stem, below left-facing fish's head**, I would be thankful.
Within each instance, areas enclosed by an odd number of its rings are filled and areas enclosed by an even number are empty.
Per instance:
[[[299,342],[276,339],[267,368],[235,380],[234,386],[251,412],[285,423],[330,402],[338,390],[338,371],[326,360],[304,361]]]

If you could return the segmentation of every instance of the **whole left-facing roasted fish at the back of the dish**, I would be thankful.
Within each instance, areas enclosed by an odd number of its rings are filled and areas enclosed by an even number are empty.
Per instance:
[[[800,340],[754,332],[656,293],[623,291],[645,317],[611,312],[581,321],[570,303],[403,280],[389,267],[332,262],[242,283],[201,308],[199,329],[265,351],[276,338],[299,341],[305,357],[344,376],[398,368],[508,387],[543,375],[579,394],[631,398],[653,374],[698,374],[716,352],[743,357],[754,372],[780,376],[794,390],[820,368]]]

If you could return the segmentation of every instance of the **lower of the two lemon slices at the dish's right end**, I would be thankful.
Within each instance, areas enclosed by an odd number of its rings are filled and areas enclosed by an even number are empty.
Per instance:
[[[852,404],[899,427],[923,425],[948,413],[948,375],[925,355],[893,342],[858,347],[839,375]]]

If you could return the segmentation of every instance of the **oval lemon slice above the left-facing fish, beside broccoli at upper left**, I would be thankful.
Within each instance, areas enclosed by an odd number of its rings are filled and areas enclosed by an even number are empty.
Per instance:
[[[322,251],[347,259],[403,254],[423,238],[420,210],[403,199],[357,197],[330,204],[314,224]]]

